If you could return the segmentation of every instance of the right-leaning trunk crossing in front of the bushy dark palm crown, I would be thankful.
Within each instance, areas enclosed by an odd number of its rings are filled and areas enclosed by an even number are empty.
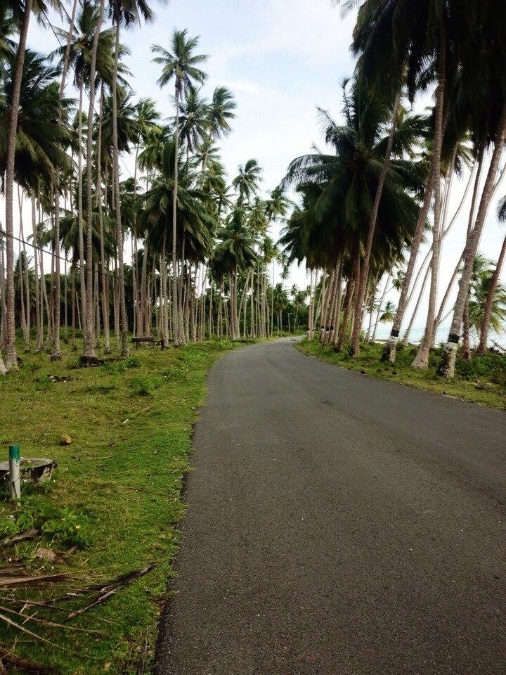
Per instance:
[[[372,252],[372,242],[374,240],[375,231],[376,231],[376,222],[377,215],[380,210],[380,202],[383,194],[384,184],[387,180],[387,174],[390,168],[391,162],[391,153],[392,148],[394,147],[394,135],[397,127],[397,117],[399,107],[401,105],[401,91],[398,91],[395,102],[394,110],[392,113],[392,122],[389,133],[389,140],[387,145],[387,153],[384,158],[382,172],[380,174],[380,181],[378,181],[376,195],[374,204],[372,205],[372,212],[370,216],[368,238],[365,243],[365,252],[361,269],[361,276],[358,279],[358,286],[356,291],[356,300],[355,300],[355,320],[353,321],[353,333],[351,334],[351,353],[353,356],[358,356],[360,354],[360,334],[362,328],[362,312],[363,312],[363,303],[365,296],[365,289],[367,288],[367,281],[369,276],[369,264],[370,256]]]

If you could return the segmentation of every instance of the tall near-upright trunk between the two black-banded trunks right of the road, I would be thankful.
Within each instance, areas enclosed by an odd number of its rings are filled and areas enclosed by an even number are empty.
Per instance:
[[[439,281],[439,260],[441,255],[441,146],[443,144],[443,105],[446,96],[446,29],[443,22],[441,22],[439,36],[439,73],[434,124],[434,227],[432,236],[432,274],[429,291],[429,307],[427,309],[427,323],[425,326],[424,337],[413,361],[414,368],[427,368],[429,366],[429,351],[432,347],[432,336],[434,334],[434,319],[436,316]]]

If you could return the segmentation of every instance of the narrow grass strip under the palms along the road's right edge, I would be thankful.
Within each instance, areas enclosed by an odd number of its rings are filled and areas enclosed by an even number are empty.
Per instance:
[[[488,354],[487,356],[475,356],[471,361],[458,361],[455,378],[443,380],[436,375],[436,366],[441,355],[440,349],[432,352],[427,371],[411,368],[410,364],[416,353],[416,348],[412,346],[398,349],[395,364],[381,362],[382,345],[362,345],[361,355],[358,358],[352,358],[346,350],[337,354],[331,347],[322,347],[315,340],[302,340],[297,344],[297,349],[329,364],[343,366],[373,378],[398,382],[410,387],[447,394],[491,408],[506,410],[505,356]]]

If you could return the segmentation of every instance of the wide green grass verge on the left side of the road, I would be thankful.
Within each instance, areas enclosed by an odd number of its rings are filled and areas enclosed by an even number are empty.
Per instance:
[[[205,377],[214,361],[236,346],[204,342],[164,352],[139,349],[129,360],[111,359],[98,368],[77,368],[75,354],[64,354],[56,364],[46,354],[28,354],[18,373],[0,378],[2,459],[8,443],[16,441],[22,456],[59,464],[51,482],[25,489],[22,518],[14,518],[1,487],[0,539],[33,525],[42,531],[35,541],[4,548],[2,562],[10,558],[53,569],[35,558],[37,549],[65,552],[77,545],[63,556],[65,565],[56,565],[58,571],[112,578],[156,565],[72,623],[100,635],[30,622],[30,629],[58,643],[53,648],[9,633],[0,621],[1,643],[15,644],[18,655],[62,674],[136,672],[145,641],[153,648],[167,594],[190,433]],[[62,435],[72,438],[70,446],[60,445]]]

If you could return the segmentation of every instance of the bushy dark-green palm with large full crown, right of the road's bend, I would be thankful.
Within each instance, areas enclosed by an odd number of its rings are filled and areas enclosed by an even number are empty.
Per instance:
[[[370,268],[388,268],[387,262],[391,265],[391,259],[410,243],[419,210],[415,195],[420,191],[424,175],[423,165],[410,158],[403,159],[403,153],[408,154],[420,138],[423,127],[420,117],[407,118],[403,124],[396,125],[392,141],[394,158],[387,162],[387,172],[384,172],[385,153],[391,141],[390,133],[384,136],[391,114],[389,105],[366,91],[359,82],[353,83],[349,94],[347,84],[343,87],[343,125],[319,110],[325,141],[334,153],[318,151],[293,160],[283,180],[283,186],[299,186],[305,201],[303,210],[292,215],[293,229],[290,228],[295,234],[293,244],[299,248],[297,255],[311,255],[310,268],[335,269],[330,279],[332,294],[334,289],[340,293],[339,260],[341,266],[344,262],[347,265],[346,302],[338,347],[344,342],[353,305],[352,335],[356,338],[357,330],[360,335],[363,301],[357,303],[357,296],[363,264],[369,279]],[[375,210],[372,195],[377,195],[382,180],[381,200],[372,219]],[[361,250],[368,250],[372,220],[373,245],[370,259],[366,261]],[[286,234],[290,237],[289,232]],[[334,299],[325,307],[331,313],[339,308],[339,302]],[[330,325],[334,323],[331,317]],[[356,353],[356,342],[353,347]]]

